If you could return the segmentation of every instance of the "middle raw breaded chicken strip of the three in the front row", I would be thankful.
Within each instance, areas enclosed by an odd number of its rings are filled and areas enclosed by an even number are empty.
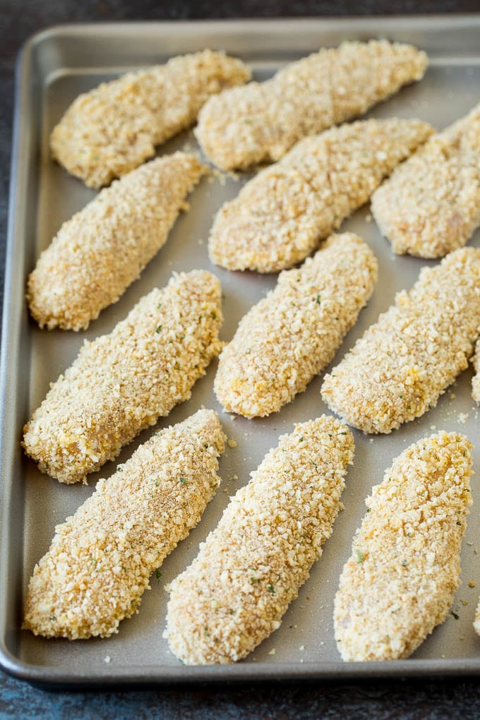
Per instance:
[[[323,415],[280,438],[170,588],[165,636],[189,665],[235,662],[276,630],[342,507],[353,437]]]

